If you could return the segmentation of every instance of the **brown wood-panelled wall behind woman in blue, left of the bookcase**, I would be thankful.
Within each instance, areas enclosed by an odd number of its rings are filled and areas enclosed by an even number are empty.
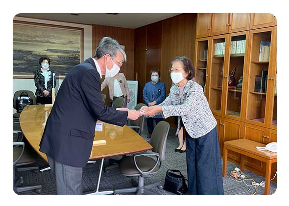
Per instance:
[[[138,103],[144,103],[143,88],[150,81],[152,68],[160,69],[161,81],[166,84],[166,94],[169,95],[171,59],[186,56],[193,62],[195,29],[196,14],[181,14],[135,29],[134,72],[138,73]],[[173,124],[173,118],[166,121]]]

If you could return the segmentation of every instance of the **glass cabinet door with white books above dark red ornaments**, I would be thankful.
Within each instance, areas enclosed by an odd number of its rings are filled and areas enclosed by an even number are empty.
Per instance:
[[[241,102],[243,91],[243,74],[246,67],[246,43],[249,32],[230,35],[230,58],[228,66],[227,104],[225,114],[231,117],[241,117]],[[225,85],[225,83],[224,83]]]

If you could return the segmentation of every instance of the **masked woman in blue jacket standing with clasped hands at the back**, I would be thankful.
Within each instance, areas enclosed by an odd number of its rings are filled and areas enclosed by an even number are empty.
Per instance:
[[[160,104],[166,99],[166,85],[164,82],[160,81],[161,72],[158,69],[150,70],[151,82],[145,84],[143,90],[143,99],[145,104],[148,106],[153,106],[155,104]],[[146,124],[148,130],[147,138],[150,139],[152,131],[154,129],[153,122],[156,124],[163,120],[162,115],[155,115],[154,117],[146,117]]]

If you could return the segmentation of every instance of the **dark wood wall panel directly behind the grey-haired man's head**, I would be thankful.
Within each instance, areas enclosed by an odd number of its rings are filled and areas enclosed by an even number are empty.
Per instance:
[[[103,37],[111,37],[117,40],[121,45],[125,45],[125,53],[127,62],[125,62],[121,68],[120,72],[125,75],[127,80],[135,80],[134,79],[134,29],[113,27],[113,26],[103,26],[93,24],[93,54],[95,55],[96,46],[98,42]],[[102,80],[104,80],[104,76]],[[103,94],[106,94],[105,104],[109,105],[109,93],[108,88],[106,87],[103,91]]]

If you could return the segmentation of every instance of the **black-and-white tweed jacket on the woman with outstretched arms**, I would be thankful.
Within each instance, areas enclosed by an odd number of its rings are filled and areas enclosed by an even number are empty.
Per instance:
[[[169,96],[163,103],[156,106],[162,107],[164,118],[181,116],[186,131],[192,138],[199,138],[209,133],[217,125],[203,88],[192,80],[186,83],[180,98],[178,85],[170,88]],[[180,130],[180,118],[176,134]]]

